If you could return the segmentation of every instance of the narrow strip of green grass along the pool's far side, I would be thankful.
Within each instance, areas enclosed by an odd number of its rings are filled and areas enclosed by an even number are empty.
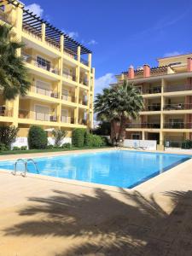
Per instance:
[[[32,154],[32,153],[46,153],[46,152],[62,152],[62,151],[73,151],[73,150],[82,150],[82,149],[96,149],[96,148],[112,148],[111,146],[105,147],[82,147],[82,148],[45,148],[45,149],[28,149],[28,150],[9,150],[0,152],[0,155],[7,154]]]

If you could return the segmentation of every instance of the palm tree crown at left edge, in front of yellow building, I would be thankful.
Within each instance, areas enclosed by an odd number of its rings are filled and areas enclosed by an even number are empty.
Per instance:
[[[30,87],[26,67],[17,51],[24,44],[10,40],[12,27],[0,25],[0,87],[5,100],[15,99],[15,96],[25,96]]]

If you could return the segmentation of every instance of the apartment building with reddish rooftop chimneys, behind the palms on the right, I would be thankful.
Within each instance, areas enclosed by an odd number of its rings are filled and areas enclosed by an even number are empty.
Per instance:
[[[157,59],[158,67],[130,66],[117,75],[128,80],[144,99],[139,119],[127,124],[128,139],[156,140],[159,148],[192,140],[192,54]]]

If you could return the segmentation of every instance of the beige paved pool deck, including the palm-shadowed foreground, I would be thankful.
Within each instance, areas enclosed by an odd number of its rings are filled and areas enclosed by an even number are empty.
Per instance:
[[[0,256],[9,255],[191,256],[192,160],[134,189],[1,171]]]

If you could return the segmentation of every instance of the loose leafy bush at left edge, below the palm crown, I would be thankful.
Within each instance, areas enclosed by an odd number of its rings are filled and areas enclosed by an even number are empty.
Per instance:
[[[11,143],[15,143],[18,131],[19,128],[15,128],[15,126],[0,126],[0,143],[4,144],[9,150]]]

